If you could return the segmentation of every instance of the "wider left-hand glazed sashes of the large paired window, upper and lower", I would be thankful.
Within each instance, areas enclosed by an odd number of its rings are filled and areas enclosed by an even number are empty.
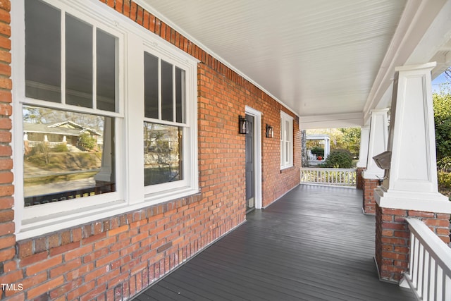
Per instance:
[[[116,191],[109,112],[116,112],[117,43],[70,13],[25,1],[25,207]]]

